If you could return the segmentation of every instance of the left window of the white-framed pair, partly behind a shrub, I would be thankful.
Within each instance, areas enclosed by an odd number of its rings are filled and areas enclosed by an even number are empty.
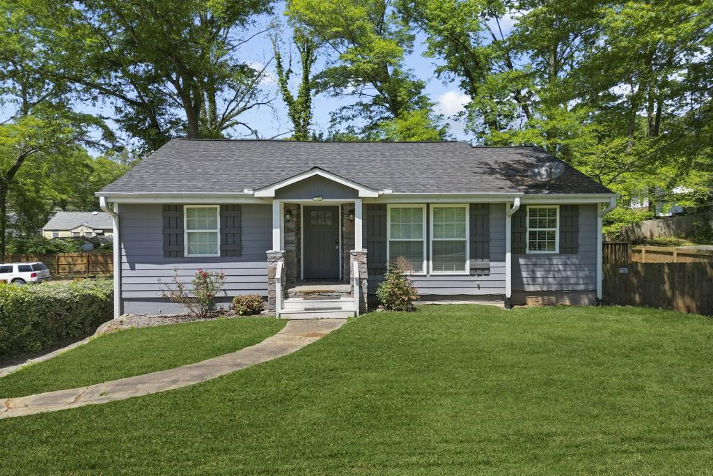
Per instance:
[[[389,205],[386,230],[389,261],[403,256],[414,273],[425,273],[426,206]]]

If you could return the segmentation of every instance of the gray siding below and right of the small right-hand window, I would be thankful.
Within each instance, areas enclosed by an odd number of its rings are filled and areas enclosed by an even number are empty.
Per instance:
[[[513,254],[513,295],[596,290],[597,206],[579,207],[578,253]]]

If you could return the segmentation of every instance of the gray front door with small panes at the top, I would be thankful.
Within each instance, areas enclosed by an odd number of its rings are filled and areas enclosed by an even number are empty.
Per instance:
[[[339,279],[339,207],[304,207],[304,279]]]

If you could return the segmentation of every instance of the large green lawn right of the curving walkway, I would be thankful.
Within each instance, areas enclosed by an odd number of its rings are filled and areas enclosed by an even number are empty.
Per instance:
[[[372,313],[217,380],[0,420],[0,435],[12,475],[711,474],[713,320]]]

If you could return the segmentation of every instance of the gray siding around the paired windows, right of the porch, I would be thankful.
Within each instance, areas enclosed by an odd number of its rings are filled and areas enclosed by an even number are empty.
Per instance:
[[[426,206],[426,220],[431,216],[430,207]],[[369,212],[366,211],[366,214]],[[414,275],[411,279],[421,295],[502,295],[505,293],[505,203],[491,203],[490,207],[490,273],[488,275]],[[366,217],[366,223],[369,218]],[[426,234],[430,231],[426,223]],[[429,237],[427,236],[428,240]],[[386,256],[386,243],[383,250],[367,249],[369,255]],[[426,241],[426,260],[429,259],[430,246]],[[383,275],[369,275],[369,293],[376,292],[376,286],[383,280]]]

